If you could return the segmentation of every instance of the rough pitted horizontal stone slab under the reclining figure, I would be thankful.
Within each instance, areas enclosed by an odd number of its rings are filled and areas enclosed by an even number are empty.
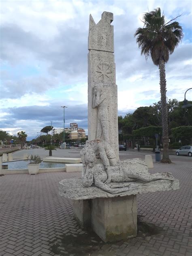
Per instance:
[[[126,192],[119,194],[110,194],[100,188],[91,186],[85,188],[82,186],[81,178],[63,179],[59,182],[59,194],[69,199],[83,200],[93,199],[97,197],[115,197],[115,196],[130,196],[147,192],[177,190],[179,189],[179,180],[156,180],[151,182],[125,182],[126,187],[129,189]],[[113,185],[119,185],[118,182]]]

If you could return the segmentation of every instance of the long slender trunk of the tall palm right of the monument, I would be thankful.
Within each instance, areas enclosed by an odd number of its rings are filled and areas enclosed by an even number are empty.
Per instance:
[[[163,158],[162,163],[171,163],[169,159],[169,133],[168,133],[168,120],[167,120],[167,104],[166,104],[166,79],[165,79],[165,63],[160,60],[159,63],[160,73],[160,93],[161,93],[161,108],[162,108],[162,143],[163,143]]]

